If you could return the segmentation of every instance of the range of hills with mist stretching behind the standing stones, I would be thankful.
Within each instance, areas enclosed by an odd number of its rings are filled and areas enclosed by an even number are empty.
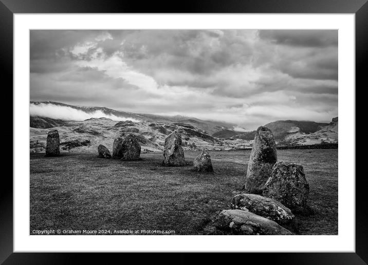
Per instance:
[[[96,152],[99,144],[112,150],[114,139],[126,134],[137,137],[142,152],[161,151],[165,138],[175,129],[181,131],[184,149],[250,149],[255,135],[255,131],[233,130],[232,123],[187,116],[159,116],[50,101],[30,102],[30,107],[32,153],[44,152],[50,128],[58,129],[61,149],[69,152]],[[287,120],[265,126],[272,130],[278,145],[338,143],[338,118],[330,123]]]

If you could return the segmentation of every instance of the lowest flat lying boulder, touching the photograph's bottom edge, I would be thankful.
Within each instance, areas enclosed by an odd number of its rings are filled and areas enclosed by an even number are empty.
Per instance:
[[[215,226],[235,235],[292,235],[277,222],[242,210],[223,210]]]

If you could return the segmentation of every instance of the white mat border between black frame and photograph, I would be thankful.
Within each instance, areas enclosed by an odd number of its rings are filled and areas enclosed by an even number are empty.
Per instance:
[[[29,236],[29,29],[338,29],[339,235]],[[14,14],[14,252],[355,252],[354,14]]]

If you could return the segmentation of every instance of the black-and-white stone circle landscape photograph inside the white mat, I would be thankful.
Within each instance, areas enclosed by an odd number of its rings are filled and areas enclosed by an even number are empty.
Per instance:
[[[30,29],[29,235],[339,235],[338,36]]]

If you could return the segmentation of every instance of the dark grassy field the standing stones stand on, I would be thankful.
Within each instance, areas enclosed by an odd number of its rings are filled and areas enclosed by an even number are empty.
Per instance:
[[[250,150],[211,152],[214,174],[162,167],[162,153],[122,162],[90,153],[30,155],[32,230],[174,230],[201,235],[231,198],[242,193]],[[310,185],[310,216],[297,216],[301,235],[338,234],[338,149],[278,150],[301,163]]]

